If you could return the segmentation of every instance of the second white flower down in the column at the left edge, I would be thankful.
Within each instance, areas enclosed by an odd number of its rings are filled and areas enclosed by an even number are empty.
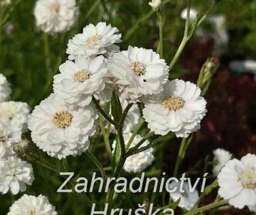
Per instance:
[[[6,123],[16,128],[19,126],[23,132],[27,129],[30,107],[27,103],[20,101],[5,101],[0,103],[0,123]]]

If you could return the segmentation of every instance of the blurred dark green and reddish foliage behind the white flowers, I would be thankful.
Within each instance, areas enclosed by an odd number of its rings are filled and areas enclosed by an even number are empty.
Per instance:
[[[148,2],[78,0],[80,15],[75,26],[66,33],[51,36],[35,27],[35,1],[12,0],[11,6],[0,14],[0,20],[4,21],[0,29],[0,72],[12,83],[12,100],[25,101],[33,108],[46,98],[52,91],[53,75],[59,72],[59,65],[67,58],[68,39],[80,33],[89,23],[106,21],[117,27],[122,33],[121,49],[131,45],[156,50],[159,23]],[[194,0],[192,9],[201,14],[212,4],[210,0]],[[165,5],[163,55],[167,64],[183,37],[185,21],[181,12],[185,8],[186,1],[172,0]],[[208,114],[181,167],[188,171],[197,164],[197,174],[201,174],[200,171],[211,171],[210,166],[197,162],[211,160],[215,148],[231,151],[237,158],[246,153],[256,153],[256,0],[220,1],[197,28],[171,71],[170,78],[196,82],[201,66],[210,56],[216,56],[220,66],[206,94]],[[104,162],[102,139],[94,141],[98,143],[94,150],[100,151],[100,159]],[[172,155],[178,153],[178,148],[176,142],[161,145],[156,150],[158,156],[155,165],[149,169],[148,174],[157,175],[159,169],[171,173],[176,160],[176,156]],[[52,159],[52,162],[57,161]],[[83,176],[93,172],[88,162],[85,157],[69,158],[69,165],[77,171],[81,169]],[[46,194],[60,214],[86,214],[83,198],[80,202],[74,202],[72,194],[56,194],[62,182],[59,176],[40,167],[36,167],[35,172],[38,176],[33,186],[28,188],[28,193]],[[100,202],[101,196],[92,195],[91,198]],[[136,198],[131,198],[131,205],[136,202]],[[0,214],[6,214],[12,199],[9,195],[0,196]],[[215,214],[252,213],[247,209],[223,209]]]

